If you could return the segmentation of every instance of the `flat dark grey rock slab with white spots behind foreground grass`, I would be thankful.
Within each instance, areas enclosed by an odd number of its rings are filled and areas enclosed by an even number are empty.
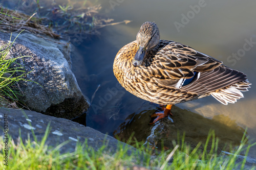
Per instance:
[[[28,134],[30,139],[33,140],[31,129],[33,129],[37,140],[41,141],[49,122],[51,131],[46,140],[47,145],[56,147],[58,144],[70,140],[68,144],[63,145],[63,147],[60,148],[60,153],[74,152],[77,140],[81,143],[87,140],[88,146],[92,147],[94,150],[98,150],[103,144],[108,143],[105,150],[115,153],[117,143],[120,142],[109,135],[102,134],[97,130],[85,127],[65,118],[48,116],[35,111],[7,108],[0,109],[0,136],[2,138],[4,138],[3,127],[5,114],[8,115],[8,134],[12,137],[15,143],[19,140],[19,129],[23,141],[28,138]],[[31,126],[28,122],[31,123]],[[123,142],[120,143],[125,145]],[[130,147],[129,152],[132,150],[135,151],[135,148],[130,145],[127,146]]]

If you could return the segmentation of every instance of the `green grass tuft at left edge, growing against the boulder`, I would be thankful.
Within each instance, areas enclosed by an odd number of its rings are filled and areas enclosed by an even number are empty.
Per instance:
[[[11,42],[10,37],[9,43],[0,47],[0,107],[10,107],[10,105],[14,107],[14,102],[21,103],[18,102],[18,95],[22,95],[22,91],[20,91],[17,82],[28,81],[24,79],[28,73],[16,60],[29,56],[7,58],[14,41]]]

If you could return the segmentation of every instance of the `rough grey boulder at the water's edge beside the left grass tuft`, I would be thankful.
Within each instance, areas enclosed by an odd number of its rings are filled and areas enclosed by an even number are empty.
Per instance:
[[[12,37],[12,41],[14,38]],[[0,33],[0,39],[0,46],[6,45],[10,35]],[[89,103],[58,48],[17,38],[7,58],[18,56],[31,56],[16,61],[29,72],[26,79],[38,83],[19,83],[24,93],[19,99],[30,109],[68,119],[77,117],[87,110]]]

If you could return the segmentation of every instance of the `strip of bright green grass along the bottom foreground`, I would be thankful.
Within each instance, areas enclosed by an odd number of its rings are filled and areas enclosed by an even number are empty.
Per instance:
[[[138,142],[134,145],[138,150],[132,151],[130,155],[127,154],[127,151],[130,150],[128,145],[123,146],[123,144],[119,143],[116,153],[112,155],[104,150],[108,145],[107,142],[95,151],[87,144],[87,141],[83,143],[78,141],[76,149],[72,153],[60,154],[59,149],[69,141],[63,142],[55,148],[48,147],[46,140],[49,133],[50,124],[41,141],[37,141],[33,130],[33,140],[28,138],[26,141],[20,140],[18,144],[15,144],[10,137],[9,169],[132,169],[135,165],[148,169],[244,169],[246,160],[235,163],[237,156],[245,150],[246,158],[249,148],[255,144],[249,144],[245,147],[248,138],[245,137],[244,133],[240,146],[236,151],[232,151],[233,155],[218,155],[218,138],[215,137],[214,131],[210,131],[204,144],[204,150],[199,149],[202,143],[191,149],[184,141],[183,135],[181,143],[176,144],[173,142],[175,148],[172,151],[162,151],[155,156],[151,156],[152,150],[147,149],[142,143]],[[0,143],[3,142],[1,137]],[[207,150],[209,142],[212,144],[209,146],[210,150]],[[2,163],[4,154],[4,149],[1,149],[0,169],[7,169],[7,166]],[[171,160],[171,164],[169,160]]]

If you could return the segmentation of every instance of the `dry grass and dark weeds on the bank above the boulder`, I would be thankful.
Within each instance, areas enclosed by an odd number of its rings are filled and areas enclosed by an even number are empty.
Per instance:
[[[22,6],[21,2],[15,1],[15,4]],[[100,5],[93,5],[90,2],[83,4],[69,2],[66,5],[45,4],[41,6],[40,1],[31,3],[29,9],[35,9],[33,11],[22,11],[22,7],[16,7],[19,10],[0,7],[0,31],[19,33],[24,30],[42,38],[44,38],[42,35],[48,35],[67,40],[79,35],[80,38],[86,39],[89,35],[99,35],[99,28],[130,22],[129,20],[113,22],[113,19],[101,16]],[[24,12],[33,13],[27,15]]]

